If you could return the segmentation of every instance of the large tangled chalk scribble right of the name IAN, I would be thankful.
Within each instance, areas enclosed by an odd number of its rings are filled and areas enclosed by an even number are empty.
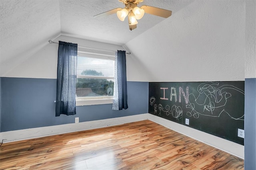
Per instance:
[[[224,107],[232,98],[232,92],[239,92],[239,95],[244,97],[243,90],[228,84],[219,86],[218,82],[205,82],[198,86],[197,91],[199,93],[197,97],[193,93],[188,95],[186,108],[190,108],[191,111],[186,113],[187,116],[194,118],[198,118],[200,115],[220,117],[222,113],[226,113],[232,119],[244,120],[244,113],[234,115]]]

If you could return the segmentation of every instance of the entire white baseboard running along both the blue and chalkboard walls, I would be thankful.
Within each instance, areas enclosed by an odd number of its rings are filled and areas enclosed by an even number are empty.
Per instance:
[[[89,129],[96,129],[101,127],[108,127],[114,125],[121,125],[124,123],[131,123],[135,121],[141,121],[149,119],[150,121],[154,121],[162,126],[165,126],[169,129],[172,129],[178,133],[196,139],[202,143],[215,147],[217,149],[228,152],[234,156],[244,159],[244,146],[228,141],[226,139],[222,139],[220,137],[216,137],[214,135],[210,135],[208,133],[181,125],[179,123],[175,123],[173,121],[169,121],[167,119],[158,117],[156,115],[152,115],[150,113],[144,113],[140,115],[132,115],[125,117],[116,117],[112,119],[103,119],[96,121],[87,121],[81,123],[70,123],[64,125],[55,125],[48,127],[37,127],[31,129],[22,129],[16,131],[7,131],[0,133],[0,142],[2,139],[4,143],[12,142],[12,141],[20,141],[24,139],[38,138],[44,136],[58,135],[63,133],[70,133],[76,131],[84,131]]]

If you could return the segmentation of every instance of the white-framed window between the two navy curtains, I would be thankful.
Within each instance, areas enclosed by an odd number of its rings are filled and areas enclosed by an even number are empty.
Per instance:
[[[115,56],[78,51],[76,105],[113,101]]]

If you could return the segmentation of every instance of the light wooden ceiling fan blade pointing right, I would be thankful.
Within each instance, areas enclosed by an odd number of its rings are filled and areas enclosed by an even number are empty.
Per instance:
[[[160,16],[160,17],[163,17],[163,18],[168,18],[169,16],[172,15],[172,11],[164,10],[162,8],[156,8],[156,7],[153,7],[153,6],[143,5],[140,8],[143,9],[148,14],[152,14],[152,15],[155,15],[155,16]]]

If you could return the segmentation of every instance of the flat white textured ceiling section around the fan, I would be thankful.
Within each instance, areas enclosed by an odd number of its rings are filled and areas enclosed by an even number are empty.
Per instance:
[[[147,4],[172,10],[170,2],[170,0],[145,0],[138,6]],[[141,20],[138,20],[137,29],[130,31],[127,18],[120,21],[116,14],[106,18],[93,17],[114,8],[124,8],[124,4],[118,0],[87,0],[86,3],[84,0],[60,0],[61,31],[85,39],[122,45],[165,19],[145,14]]]

